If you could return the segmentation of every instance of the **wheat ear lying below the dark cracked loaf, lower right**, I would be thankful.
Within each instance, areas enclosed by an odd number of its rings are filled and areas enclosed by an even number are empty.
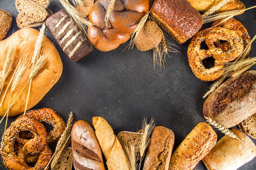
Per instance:
[[[207,116],[204,116],[204,119],[206,120],[206,122],[208,124],[210,124],[211,126],[213,126],[214,128],[218,129],[218,131],[220,131],[221,133],[224,133],[225,135],[229,136],[229,137],[232,137],[234,139],[237,139],[239,140],[240,142],[242,142],[243,144],[245,144],[248,148],[250,148],[252,151],[254,151],[256,153],[256,151],[251,148],[248,144],[246,144],[245,142],[243,142],[241,139],[239,139],[237,137],[237,135],[235,133],[233,133],[232,131],[230,131],[228,128],[226,128],[225,126],[223,126],[222,124],[216,122],[215,120],[207,117]]]

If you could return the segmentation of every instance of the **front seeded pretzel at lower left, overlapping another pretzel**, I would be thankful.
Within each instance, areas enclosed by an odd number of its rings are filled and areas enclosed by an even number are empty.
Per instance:
[[[23,153],[19,157],[14,151],[14,144],[21,131],[29,131],[33,133],[33,138],[25,143],[23,146]],[[27,117],[17,118],[11,123],[2,136],[0,154],[4,166],[11,170],[44,169],[52,157],[52,151],[47,145],[46,139],[47,132],[43,124]],[[39,155],[34,167],[30,167],[24,159],[29,153]]]

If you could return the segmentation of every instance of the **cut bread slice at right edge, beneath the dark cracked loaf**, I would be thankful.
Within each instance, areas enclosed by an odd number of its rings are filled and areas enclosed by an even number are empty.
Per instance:
[[[239,123],[237,126],[238,129],[240,129],[250,137],[256,139],[256,114],[243,120],[243,122]]]

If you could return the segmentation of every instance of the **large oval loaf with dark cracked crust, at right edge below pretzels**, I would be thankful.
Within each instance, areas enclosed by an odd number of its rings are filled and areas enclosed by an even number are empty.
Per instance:
[[[204,101],[203,115],[223,126],[236,126],[256,113],[256,71],[229,78]]]

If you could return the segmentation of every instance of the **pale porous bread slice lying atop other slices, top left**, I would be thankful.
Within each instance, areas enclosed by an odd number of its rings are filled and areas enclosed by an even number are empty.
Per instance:
[[[34,22],[43,22],[47,17],[47,11],[32,0],[16,0],[16,8],[22,17]]]

